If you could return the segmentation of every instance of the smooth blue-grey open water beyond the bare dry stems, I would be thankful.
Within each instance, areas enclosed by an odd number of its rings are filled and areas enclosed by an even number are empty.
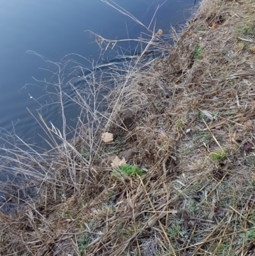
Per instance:
[[[115,3],[148,26],[157,6],[164,1],[116,0]],[[163,29],[167,34],[170,25],[183,23],[189,17],[187,10],[193,6],[194,0],[166,0],[154,17],[156,31]],[[68,54],[79,54],[89,61],[100,62],[100,49],[87,30],[113,40],[138,38],[141,32],[147,32],[100,0],[1,1],[0,137],[15,133],[26,142],[40,144],[41,136],[45,135],[27,109],[36,117],[38,111],[41,112],[47,124],[51,121],[61,128],[59,106],[52,104],[55,98],[45,96],[45,83],[36,80],[50,80],[52,73],[47,70],[55,71],[54,64],[45,63],[45,60],[58,62]],[[114,58],[119,52],[132,54],[135,46],[136,43],[126,43],[121,45],[122,48],[108,51],[103,57]],[[84,65],[91,67],[89,61],[83,61]],[[66,108],[69,126],[75,126],[77,114],[73,105]]]

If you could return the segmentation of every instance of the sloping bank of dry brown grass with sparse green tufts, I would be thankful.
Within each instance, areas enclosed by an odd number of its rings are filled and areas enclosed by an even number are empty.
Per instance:
[[[0,255],[254,255],[254,11],[202,1],[173,46],[148,42],[168,57],[113,78],[104,114],[75,99],[76,139],[8,151],[26,183],[6,186]]]

